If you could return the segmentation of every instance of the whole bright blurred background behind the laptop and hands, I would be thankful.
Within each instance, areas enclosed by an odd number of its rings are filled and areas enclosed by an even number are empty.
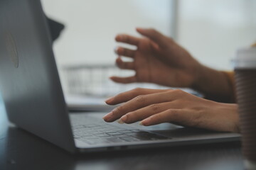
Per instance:
[[[53,50],[67,96],[112,96],[137,86],[114,84],[127,76],[114,66],[114,36],[139,36],[136,27],[156,28],[174,38],[193,57],[215,69],[232,69],[240,47],[256,40],[255,0],[42,0],[49,18],[65,29]],[[133,47],[132,47],[133,48]]]

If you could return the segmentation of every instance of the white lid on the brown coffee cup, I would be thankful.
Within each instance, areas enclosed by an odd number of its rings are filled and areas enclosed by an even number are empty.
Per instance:
[[[256,69],[256,47],[239,49],[233,64],[235,69]]]

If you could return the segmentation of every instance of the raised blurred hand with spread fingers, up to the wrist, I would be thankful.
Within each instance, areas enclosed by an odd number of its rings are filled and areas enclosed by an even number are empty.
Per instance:
[[[145,38],[131,35],[117,35],[117,42],[137,46],[137,50],[117,47],[117,55],[131,57],[133,62],[116,60],[120,69],[132,69],[132,77],[110,77],[115,82],[151,82],[164,86],[191,87],[198,79],[201,64],[172,40],[154,29],[137,28]]]

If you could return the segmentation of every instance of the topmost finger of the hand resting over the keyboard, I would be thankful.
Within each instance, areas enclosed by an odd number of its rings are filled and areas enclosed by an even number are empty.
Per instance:
[[[161,93],[164,91],[164,89],[142,89],[142,88],[137,88],[137,89],[132,89],[130,91],[125,91],[123,93],[117,94],[116,96],[112,98],[108,98],[107,101],[105,101],[109,105],[116,105],[119,103],[124,103],[129,100],[132,100],[132,98],[135,98],[139,95],[146,95],[146,94],[156,94],[156,93]]]

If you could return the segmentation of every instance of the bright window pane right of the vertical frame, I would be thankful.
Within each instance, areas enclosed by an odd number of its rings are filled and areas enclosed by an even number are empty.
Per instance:
[[[254,0],[181,0],[178,42],[203,64],[231,70],[236,50],[256,41],[255,11]]]

